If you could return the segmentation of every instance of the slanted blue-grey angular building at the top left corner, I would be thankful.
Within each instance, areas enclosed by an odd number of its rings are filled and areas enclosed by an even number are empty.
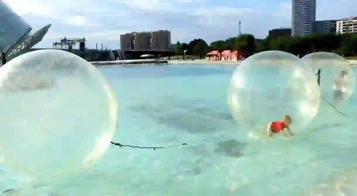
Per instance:
[[[0,58],[4,60],[4,57],[9,61],[28,52],[32,46],[42,40],[50,27],[51,24],[46,25],[31,35],[31,26],[0,1],[0,50],[3,53]]]

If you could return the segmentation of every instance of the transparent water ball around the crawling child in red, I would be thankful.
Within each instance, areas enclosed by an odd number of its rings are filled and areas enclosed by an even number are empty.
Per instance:
[[[244,130],[261,132],[270,122],[290,115],[291,127],[299,132],[318,112],[320,89],[300,58],[265,51],[248,57],[233,72],[228,103]]]

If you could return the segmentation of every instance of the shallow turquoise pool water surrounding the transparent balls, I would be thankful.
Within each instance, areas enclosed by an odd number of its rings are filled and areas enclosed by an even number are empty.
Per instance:
[[[340,190],[356,195],[357,97],[342,109],[350,118],[322,102],[307,134],[292,140],[252,140],[228,110],[234,68],[101,67],[119,102],[114,142],[188,145],[156,150],[112,145],[94,167],[37,188],[37,195],[332,196]],[[19,187],[19,177],[4,167],[1,172],[0,190]]]

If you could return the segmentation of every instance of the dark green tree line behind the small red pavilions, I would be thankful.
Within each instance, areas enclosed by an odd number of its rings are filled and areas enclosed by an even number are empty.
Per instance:
[[[175,55],[197,55],[200,58],[210,51],[241,51],[249,57],[257,52],[278,50],[304,56],[312,52],[333,52],[341,56],[357,56],[357,33],[315,34],[311,36],[278,36],[256,39],[251,34],[242,34],[226,40],[213,41],[208,45],[205,40],[194,39],[189,43],[177,42],[173,48]]]

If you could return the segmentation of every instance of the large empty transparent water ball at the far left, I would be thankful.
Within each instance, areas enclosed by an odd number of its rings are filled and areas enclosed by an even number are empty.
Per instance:
[[[0,68],[0,160],[32,179],[95,163],[116,130],[117,103],[102,74],[61,50],[38,50]]]

